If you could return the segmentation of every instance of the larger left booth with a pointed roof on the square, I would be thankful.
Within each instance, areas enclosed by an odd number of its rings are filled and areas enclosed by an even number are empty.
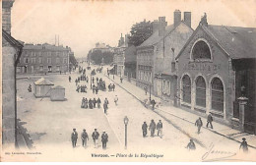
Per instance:
[[[50,96],[50,89],[54,85],[48,80],[44,78],[39,79],[38,81],[33,83],[33,95],[38,97],[49,97]]]

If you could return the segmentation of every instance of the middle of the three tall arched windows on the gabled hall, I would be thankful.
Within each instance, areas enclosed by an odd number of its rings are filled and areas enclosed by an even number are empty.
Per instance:
[[[196,105],[206,107],[206,83],[201,76],[196,79]]]

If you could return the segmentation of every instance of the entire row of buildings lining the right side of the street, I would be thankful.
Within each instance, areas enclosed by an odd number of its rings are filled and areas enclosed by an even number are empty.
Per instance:
[[[121,36],[114,73],[175,106],[202,116],[211,112],[216,121],[255,134],[256,28],[208,25],[205,14],[194,30],[191,12],[183,17],[174,11],[169,26],[160,17],[137,47]]]

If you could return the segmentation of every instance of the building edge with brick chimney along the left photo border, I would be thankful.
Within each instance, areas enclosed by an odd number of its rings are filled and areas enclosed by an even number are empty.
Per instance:
[[[17,144],[16,66],[23,45],[11,36],[14,0],[2,1],[2,147]]]

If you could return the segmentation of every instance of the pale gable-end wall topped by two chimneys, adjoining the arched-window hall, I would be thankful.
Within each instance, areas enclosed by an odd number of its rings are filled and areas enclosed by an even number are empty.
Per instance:
[[[176,76],[172,63],[181,48],[193,33],[191,13],[184,12],[184,21],[181,21],[181,12],[174,11],[172,29],[156,44],[156,68],[154,79],[154,93],[166,100],[174,100],[176,92]]]

